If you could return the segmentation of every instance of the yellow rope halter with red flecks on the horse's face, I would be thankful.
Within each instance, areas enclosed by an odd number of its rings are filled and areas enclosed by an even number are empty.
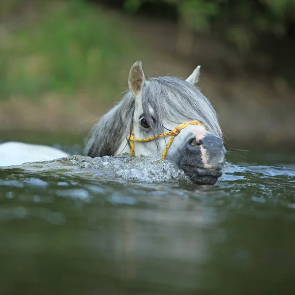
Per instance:
[[[142,139],[134,138],[134,133],[133,133],[133,130],[132,130],[131,134],[127,136],[127,140],[130,141],[131,157],[134,157],[134,142],[143,143],[143,142],[155,140],[155,139],[157,139],[159,137],[164,137],[164,136],[171,135],[170,140],[169,140],[169,142],[168,142],[168,144],[167,144],[167,146],[164,149],[164,152],[162,154],[162,158],[164,159],[166,154],[167,154],[168,149],[170,148],[170,146],[171,146],[171,144],[172,144],[172,142],[174,140],[174,138],[179,134],[179,132],[182,129],[184,129],[185,127],[187,127],[189,125],[199,125],[199,126],[204,127],[207,130],[207,128],[202,123],[200,123],[199,121],[196,121],[196,120],[182,123],[182,124],[176,126],[172,131],[168,131],[168,132],[165,132],[165,133],[158,134],[156,136],[152,136],[152,137],[148,137],[148,138],[142,138]]]

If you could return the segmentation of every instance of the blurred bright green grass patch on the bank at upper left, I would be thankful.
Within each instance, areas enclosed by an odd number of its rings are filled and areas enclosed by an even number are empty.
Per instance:
[[[0,31],[0,99],[77,91],[117,99],[138,47],[116,14],[82,0],[31,7],[33,21],[20,9],[16,29],[4,23]]]

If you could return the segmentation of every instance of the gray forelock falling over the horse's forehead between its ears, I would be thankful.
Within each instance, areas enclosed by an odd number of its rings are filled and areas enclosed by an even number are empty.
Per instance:
[[[177,124],[198,120],[209,132],[222,137],[216,112],[199,88],[176,77],[146,81],[142,107],[154,134],[163,132],[163,120]],[[151,114],[150,109],[153,110]]]

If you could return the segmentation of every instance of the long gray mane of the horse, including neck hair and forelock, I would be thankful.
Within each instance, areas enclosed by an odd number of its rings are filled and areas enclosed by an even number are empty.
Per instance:
[[[135,97],[128,91],[117,106],[100,118],[89,133],[85,155],[114,155],[132,127],[134,102]],[[146,81],[142,90],[142,106],[154,135],[167,131],[163,119],[176,125],[199,120],[210,133],[222,138],[218,118],[210,102],[198,88],[185,80],[157,77]]]

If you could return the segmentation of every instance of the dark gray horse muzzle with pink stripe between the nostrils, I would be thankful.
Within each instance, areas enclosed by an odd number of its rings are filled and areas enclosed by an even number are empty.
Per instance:
[[[198,130],[186,139],[180,152],[179,168],[198,184],[215,184],[222,176],[225,154],[220,137]]]

